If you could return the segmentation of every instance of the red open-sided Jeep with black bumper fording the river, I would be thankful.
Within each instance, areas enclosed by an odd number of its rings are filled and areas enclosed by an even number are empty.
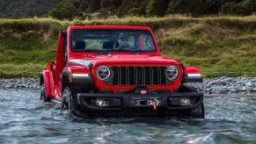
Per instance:
[[[204,118],[199,68],[161,56],[145,26],[70,26],[40,74],[44,102],[72,115]]]

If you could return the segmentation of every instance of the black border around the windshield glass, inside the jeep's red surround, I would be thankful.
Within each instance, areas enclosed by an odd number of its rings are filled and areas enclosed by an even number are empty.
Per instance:
[[[152,44],[152,47],[154,47],[154,49],[152,50],[140,50],[140,49],[130,49],[132,52],[134,53],[156,53],[157,52],[157,44],[156,41],[154,39],[154,36],[152,35],[152,33],[148,30],[137,30],[137,29],[73,29],[72,31],[70,31],[70,38],[69,38],[69,49],[71,50],[71,52],[73,53],[99,53],[99,52],[85,52],[84,49],[83,50],[77,50],[74,49],[73,47],[73,35],[76,34],[76,32],[95,32],[95,31],[99,31],[99,32],[141,32],[142,34],[147,34],[150,36],[150,41]],[[115,49],[115,48],[113,48]],[[112,50],[104,50],[104,49],[97,49],[99,51],[102,51],[102,53],[127,53],[130,54],[131,52],[121,52],[121,51],[113,51]],[[118,50],[118,49],[116,49]]]

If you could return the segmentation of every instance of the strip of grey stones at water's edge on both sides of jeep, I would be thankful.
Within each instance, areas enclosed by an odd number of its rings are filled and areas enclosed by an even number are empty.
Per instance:
[[[256,93],[256,77],[218,77],[203,83],[187,83],[205,94]],[[40,89],[38,79],[0,79],[0,89]]]

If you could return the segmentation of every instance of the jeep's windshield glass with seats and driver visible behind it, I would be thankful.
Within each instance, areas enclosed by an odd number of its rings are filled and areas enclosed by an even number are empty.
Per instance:
[[[74,30],[73,52],[152,53],[157,48],[149,31],[142,30]]]

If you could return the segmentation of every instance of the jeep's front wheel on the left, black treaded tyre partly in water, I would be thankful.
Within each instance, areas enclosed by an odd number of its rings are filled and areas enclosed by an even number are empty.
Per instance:
[[[77,102],[77,88],[67,87],[62,92],[62,110],[67,110],[71,115],[80,117],[81,109]]]

